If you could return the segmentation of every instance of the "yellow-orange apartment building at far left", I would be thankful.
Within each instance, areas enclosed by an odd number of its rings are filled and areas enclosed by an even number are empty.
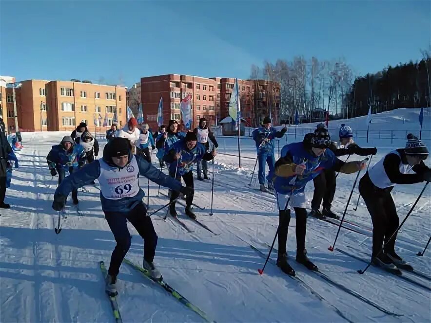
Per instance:
[[[15,90],[18,124],[21,131],[69,131],[85,122],[94,133],[111,126],[117,108],[119,125],[126,120],[126,90],[80,81],[25,80]],[[12,89],[1,90],[1,106],[5,125],[15,126]],[[4,94],[3,94],[4,93]],[[5,101],[5,102],[4,102]],[[107,115],[108,126],[103,127]],[[100,117],[102,119],[100,119]],[[94,124],[96,117],[97,126]]]

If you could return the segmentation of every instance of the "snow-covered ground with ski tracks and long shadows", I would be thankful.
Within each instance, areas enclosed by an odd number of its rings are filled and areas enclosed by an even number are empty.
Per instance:
[[[372,130],[418,132],[418,111],[400,109],[374,115],[372,126],[375,128]],[[361,117],[347,123],[353,129],[363,129],[360,125],[364,125],[365,120]],[[428,111],[423,129],[430,130],[430,123]],[[288,142],[294,142],[292,133],[290,129]],[[114,322],[98,261],[103,260],[106,266],[109,265],[115,241],[101,211],[99,191],[92,186],[85,188],[87,192],[80,189],[78,198],[83,216],[78,216],[72,206],[67,206],[63,230],[59,235],[54,232],[58,214],[52,210],[51,203],[58,178],[51,179],[45,157],[51,146],[59,143],[65,134],[68,133],[23,133],[20,168],[14,171],[6,197],[6,202],[13,206],[0,211],[0,322]],[[301,139],[302,136],[297,135],[297,141]],[[430,132],[424,132],[423,139],[431,146]],[[220,153],[236,154],[234,139],[218,140]],[[280,149],[285,141],[281,139]],[[367,146],[364,138],[356,141]],[[379,149],[372,163],[391,149],[404,146],[405,141],[404,135],[392,144],[388,138],[371,139],[368,145]],[[103,140],[100,143],[102,147],[105,144]],[[243,156],[255,157],[251,141],[243,139],[241,145]],[[155,155],[153,159],[156,160]],[[297,276],[326,302],[271,263],[260,276],[257,269],[262,268],[265,259],[252,250],[249,243],[267,253],[267,244],[272,243],[276,231],[278,212],[274,197],[257,191],[256,174],[252,182],[255,189],[247,186],[255,160],[242,159],[241,169],[237,163],[238,158],[234,156],[219,154],[216,157],[213,216],[208,215],[211,182],[195,181],[195,203],[206,208],[204,211],[195,208],[198,219],[219,235],[197,226],[184,215],[180,215],[180,219],[194,230],[193,233],[186,232],[170,219],[163,221],[164,210],[152,215],[159,237],[155,262],[164,279],[209,318],[217,322],[345,322],[345,318],[353,322],[431,321],[429,289],[373,267],[364,275],[358,274],[356,270],[363,269],[365,263],[327,249],[333,243],[337,226],[314,218],[308,219],[306,247],[309,257],[322,272],[373,303],[403,316],[385,314],[298,266],[294,261],[294,216],[288,239],[290,263]],[[430,164],[429,160],[427,164]],[[210,163],[210,170],[211,167]],[[337,178],[333,210],[341,215],[354,179],[354,174],[340,174]],[[140,179],[140,185],[146,192],[147,179]],[[394,189],[401,220],[423,186],[399,185]],[[157,188],[155,183],[150,183],[153,210],[168,201],[166,196],[157,197]],[[166,194],[167,189],[162,188],[161,192]],[[397,252],[406,261],[429,276],[431,250],[423,257],[415,254],[423,250],[431,232],[430,193],[429,188],[424,192],[396,244]],[[308,184],[306,194],[311,200],[312,182]],[[362,200],[358,210],[353,211],[357,197],[356,188],[346,215],[349,221],[346,227],[353,231],[342,228],[336,247],[368,260],[369,256],[363,252],[370,252],[371,218]],[[177,210],[180,208],[177,204]],[[129,230],[133,238],[127,257],[140,264],[142,239],[132,226]],[[272,258],[276,258],[276,252]],[[431,287],[429,280],[408,273],[405,276]],[[123,322],[202,322],[194,312],[126,264],[121,266],[118,279],[118,303]]]

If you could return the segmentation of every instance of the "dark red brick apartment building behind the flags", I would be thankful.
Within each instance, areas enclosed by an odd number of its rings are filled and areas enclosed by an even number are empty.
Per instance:
[[[157,129],[157,110],[163,99],[163,121],[181,122],[180,102],[188,94],[192,98],[193,127],[205,117],[210,125],[229,115],[229,101],[235,86],[234,78],[205,78],[199,76],[167,74],[142,77],[141,102],[145,121]],[[241,114],[249,125],[256,126],[265,115],[278,115],[279,84],[266,80],[238,79]],[[274,119],[274,118],[273,118]],[[277,120],[274,120],[274,122]]]

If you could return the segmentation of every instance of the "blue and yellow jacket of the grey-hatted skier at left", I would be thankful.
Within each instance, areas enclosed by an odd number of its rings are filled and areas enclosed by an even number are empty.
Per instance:
[[[87,155],[85,155],[84,147],[80,144],[74,144],[71,149],[66,151],[61,144],[52,146],[51,151],[46,156],[49,169],[64,169],[69,171],[72,167],[75,170],[85,165]]]

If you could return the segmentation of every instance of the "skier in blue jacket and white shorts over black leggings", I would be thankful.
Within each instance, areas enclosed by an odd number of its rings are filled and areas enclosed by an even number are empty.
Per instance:
[[[287,202],[294,208],[296,216],[296,261],[308,269],[317,270],[307,257],[305,234],[307,211],[305,209],[305,185],[324,169],[351,174],[365,168],[365,162],[343,162],[335,157],[330,149],[331,136],[326,128],[319,128],[308,134],[299,143],[288,144],[281,150],[281,157],[275,163],[274,188],[277,193],[279,210],[278,258],[277,266],[290,275],[294,269],[287,262],[286,242],[291,211]]]

